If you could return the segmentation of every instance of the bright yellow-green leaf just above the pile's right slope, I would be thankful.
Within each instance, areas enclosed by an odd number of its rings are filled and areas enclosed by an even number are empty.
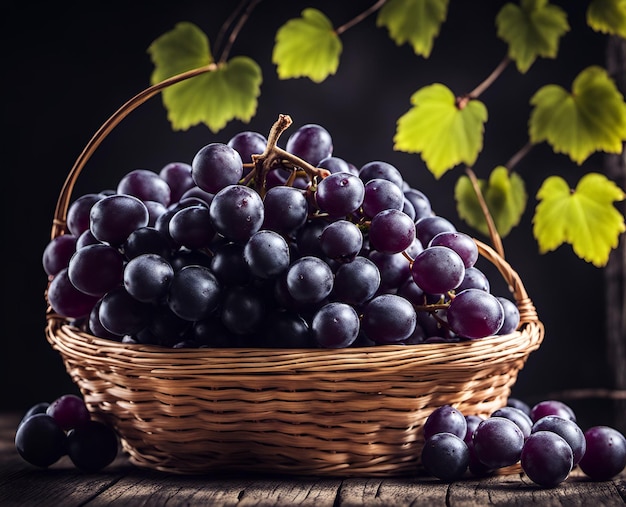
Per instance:
[[[416,91],[411,104],[397,121],[394,149],[421,153],[437,179],[460,163],[474,164],[483,147],[487,121],[482,102],[468,100],[459,106],[449,88],[435,83]]]

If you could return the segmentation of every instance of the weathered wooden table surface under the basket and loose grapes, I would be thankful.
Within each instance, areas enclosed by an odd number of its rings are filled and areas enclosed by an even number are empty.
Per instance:
[[[523,473],[443,483],[411,478],[180,476],[139,469],[126,456],[86,474],[64,457],[48,469],[15,450],[18,414],[0,414],[0,506],[613,506],[626,504],[626,472],[593,482],[578,470],[544,489]]]

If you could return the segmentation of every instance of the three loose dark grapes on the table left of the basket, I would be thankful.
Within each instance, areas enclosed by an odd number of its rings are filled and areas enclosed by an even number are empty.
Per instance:
[[[31,465],[46,468],[67,455],[79,470],[97,472],[113,462],[119,442],[109,426],[91,418],[81,397],[65,394],[28,409],[15,448]]]

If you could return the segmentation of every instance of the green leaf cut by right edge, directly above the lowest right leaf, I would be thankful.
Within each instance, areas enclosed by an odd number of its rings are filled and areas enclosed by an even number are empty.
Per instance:
[[[584,69],[574,79],[572,93],[545,85],[530,99],[529,135],[533,143],[547,141],[579,165],[595,151],[621,153],[626,140],[626,103],[602,67]]]

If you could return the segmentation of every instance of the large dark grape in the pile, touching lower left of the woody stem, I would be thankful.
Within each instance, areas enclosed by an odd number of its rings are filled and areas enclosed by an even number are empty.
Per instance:
[[[261,196],[243,185],[220,190],[209,207],[213,227],[231,241],[245,242],[263,225]]]

